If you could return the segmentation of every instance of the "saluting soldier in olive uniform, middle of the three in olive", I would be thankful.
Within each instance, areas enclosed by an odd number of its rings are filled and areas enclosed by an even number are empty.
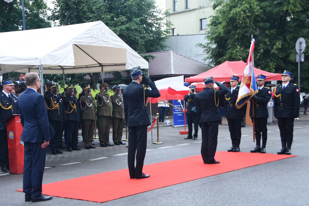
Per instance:
[[[95,95],[97,100],[98,132],[100,147],[114,146],[109,143],[109,130],[111,128],[112,101],[107,93],[108,84],[103,82],[100,92]]]

